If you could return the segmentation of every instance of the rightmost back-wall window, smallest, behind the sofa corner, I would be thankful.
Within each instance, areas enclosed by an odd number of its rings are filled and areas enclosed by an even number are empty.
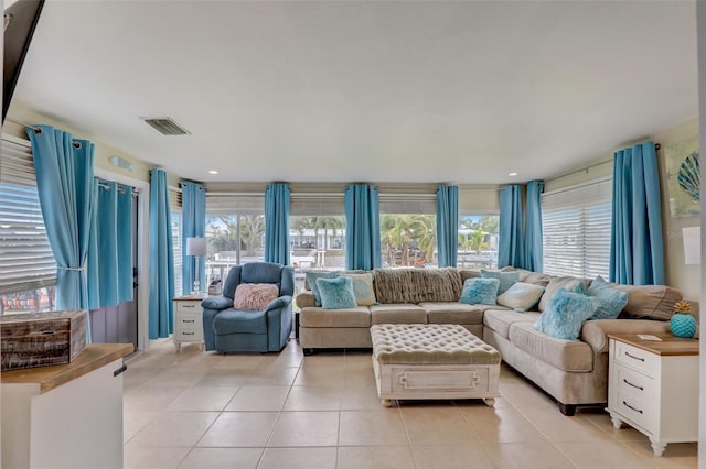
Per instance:
[[[459,217],[458,266],[462,269],[498,268],[498,215]]]

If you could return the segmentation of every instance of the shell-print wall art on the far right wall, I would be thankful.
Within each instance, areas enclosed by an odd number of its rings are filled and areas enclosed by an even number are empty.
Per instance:
[[[698,139],[666,146],[664,161],[672,218],[698,217],[700,215]]]

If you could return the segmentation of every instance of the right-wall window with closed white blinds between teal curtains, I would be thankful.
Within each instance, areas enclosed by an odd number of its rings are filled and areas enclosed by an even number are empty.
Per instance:
[[[612,179],[542,195],[544,272],[608,279]]]

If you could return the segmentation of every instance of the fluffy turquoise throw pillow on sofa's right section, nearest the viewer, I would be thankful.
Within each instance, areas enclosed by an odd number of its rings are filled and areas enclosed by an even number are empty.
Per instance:
[[[581,326],[598,309],[598,299],[560,287],[534,324],[534,328],[557,339],[576,340]]]

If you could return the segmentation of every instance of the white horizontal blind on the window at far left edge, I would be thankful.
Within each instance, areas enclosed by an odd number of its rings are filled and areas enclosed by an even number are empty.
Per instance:
[[[56,284],[29,141],[2,138],[0,152],[0,294]]]

